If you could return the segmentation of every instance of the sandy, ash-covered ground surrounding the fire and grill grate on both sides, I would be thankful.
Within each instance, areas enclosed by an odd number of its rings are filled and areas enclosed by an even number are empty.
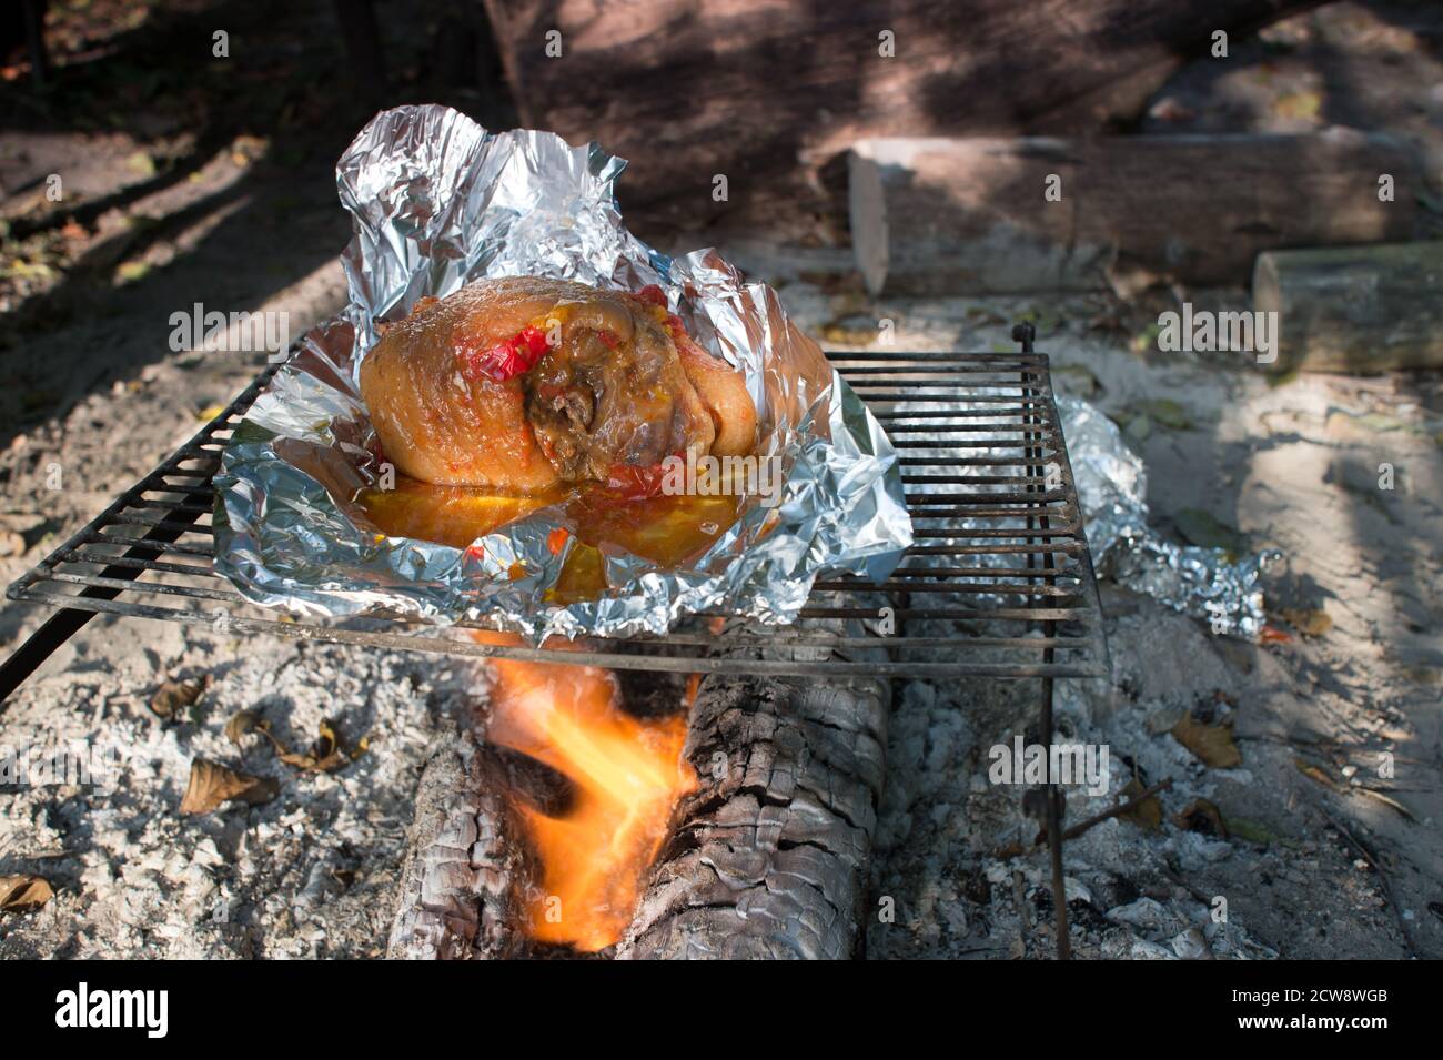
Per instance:
[[[1329,19],[1351,19],[1362,9],[1329,10]],[[1329,29],[1299,25],[1323,36]],[[1368,25],[1371,35],[1354,35],[1361,43],[1351,69],[1401,69],[1421,102],[1404,108],[1400,125],[1436,136],[1436,61],[1397,30],[1405,19]],[[1387,52],[1401,58],[1369,58],[1368,49],[1390,48],[1384,30],[1405,35]],[[1254,84],[1244,65],[1224,84],[1185,72],[1165,97],[1201,117],[1163,108],[1170,117],[1156,121],[1205,124],[1209,100],[1241,108],[1228,127],[1294,121],[1307,105],[1294,101],[1278,114],[1257,100],[1315,91],[1309,78],[1322,68],[1304,61],[1306,48],[1302,58],[1270,55],[1280,63],[1270,76],[1283,84]],[[1316,76],[1326,89],[1326,69]],[[6,187],[30,189],[10,195],[7,215],[25,208],[16,195],[33,195],[30,177],[56,169],[81,175],[74,189],[84,199],[115,199],[84,232],[63,237],[78,245],[56,275],[30,273],[4,288],[6,583],[254,374],[254,358],[170,352],[170,312],[195,301],[284,310],[299,333],[341,304],[335,254],[346,224],[329,167],[349,127],[316,136],[300,123],[266,143],[247,140],[240,125],[222,128],[227,136],[193,159],[173,130],[0,137]],[[183,179],[156,180],[127,162],[140,146],[160,157],[159,144],[189,159]],[[306,150],[297,154],[299,146]],[[1203,511],[1240,547],[1284,557],[1268,578],[1280,636],[1263,645],[1214,637],[1154,600],[1104,587],[1113,678],[1059,684],[1058,710],[1063,736],[1110,747],[1113,783],[1102,798],[1072,792],[1068,821],[1110,805],[1134,773],[1143,783],[1170,777],[1173,789],[1160,796],[1156,826],[1111,821],[1068,845],[1079,955],[1443,956],[1436,374],[1270,381],[1247,363],[1149,352],[1157,306],[1102,297],[873,304],[834,275],[846,265],[835,249],[778,252],[755,239],[729,248],[776,280],[801,322],[834,343],[890,317],[902,348],[987,350],[1010,348],[1012,320],[1033,319],[1059,389],[1127,424],[1147,461],[1162,532],[1180,539]],[[43,258],[33,241],[22,249]],[[1157,398],[1185,415],[1146,415]],[[56,463],[58,490],[48,489]],[[1394,489],[1380,489],[1384,464]],[[43,617],[7,603],[0,652]],[[182,718],[162,721],[149,710],[163,681],[202,675],[212,684]],[[390,913],[382,896],[398,870],[427,743],[440,718],[475,705],[479,689],[470,668],[424,656],[94,620],[7,704],[0,750],[78,740],[113,748],[123,766],[114,783],[0,785],[0,875],[35,873],[55,888],[38,911],[0,913],[0,956],[378,953]],[[869,929],[869,956],[1052,952],[1045,858],[1004,857],[1009,845],[1030,844],[1036,825],[1017,789],[986,782],[987,750],[1025,731],[1036,705],[1035,682],[896,684],[872,870],[874,907],[896,914]],[[291,747],[329,718],[348,746],[367,736],[368,750],[332,774],[299,772],[258,736],[238,744],[225,736],[241,710],[263,715]],[[1229,718],[1241,764],[1212,769],[1179,744],[1170,730],[1185,712]],[[1384,754],[1392,756],[1390,776],[1380,776]],[[180,816],[195,757],[276,777],[280,796]],[[1232,822],[1227,838],[1175,819],[1196,799]],[[1219,897],[1222,922],[1212,916]]]

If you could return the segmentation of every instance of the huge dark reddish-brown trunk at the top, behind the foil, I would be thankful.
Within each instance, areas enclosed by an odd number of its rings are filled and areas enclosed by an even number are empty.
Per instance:
[[[1216,30],[1316,0],[486,0],[522,124],[631,160],[623,211],[678,226],[846,209],[827,167],[877,136],[1088,133]],[[547,55],[560,32],[561,55]],[[895,55],[880,53],[890,30]],[[727,202],[713,199],[726,175]],[[835,177],[831,180],[830,177]],[[636,209],[644,208],[644,209]]]

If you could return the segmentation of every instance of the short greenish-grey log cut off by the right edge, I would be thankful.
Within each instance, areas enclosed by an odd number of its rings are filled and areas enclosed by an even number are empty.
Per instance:
[[[1253,307],[1278,314],[1276,369],[1443,366],[1443,242],[1261,254]]]

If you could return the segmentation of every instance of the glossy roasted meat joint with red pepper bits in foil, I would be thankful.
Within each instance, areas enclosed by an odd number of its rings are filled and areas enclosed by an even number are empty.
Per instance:
[[[387,459],[423,482],[535,493],[749,451],[745,381],[658,294],[518,277],[423,299],[361,365]]]

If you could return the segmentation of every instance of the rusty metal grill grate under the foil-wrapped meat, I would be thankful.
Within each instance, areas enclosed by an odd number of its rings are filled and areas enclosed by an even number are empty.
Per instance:
[[[98,611],[242,633],[628,669],[726,671],[737,662],[716,658],[719,646],[749,642],[794,649],[789,659],[749,659],[743,665],[753,673],[1104,673],[1097,584],[1048,358],[1033,352],[828,358],[876,412],[902,457],[916,542],[883,584],[818,580],[802,617],[873,620],[876,627],[880,593],[892,609],[890,636],[837,636],[814,627],[745,627],[719,636],[694,622],[667,637],[592,640],[587,650],[560,652],[478,645],[453,629],[392,619],[320,623],[254,607],[211,570],[211,476],[232,427],[274,368],[10,586],[9,596],[74,609],[62,613],[71,619],[69,632]],[[698,620],[706,617],[714,616]],[[808,648],[833,646],[840,658],[808,661]],[[847,659],[853,648],[883,648],[887,661]]]

